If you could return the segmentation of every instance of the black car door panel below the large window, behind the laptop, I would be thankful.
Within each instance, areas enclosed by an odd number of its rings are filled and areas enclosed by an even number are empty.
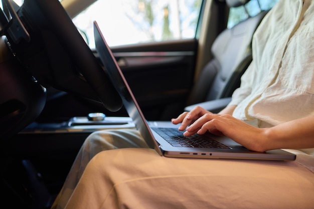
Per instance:
[[[193,82],[196,49],[195,39],[112,47],[147,119],[170,119],[183,110]]]

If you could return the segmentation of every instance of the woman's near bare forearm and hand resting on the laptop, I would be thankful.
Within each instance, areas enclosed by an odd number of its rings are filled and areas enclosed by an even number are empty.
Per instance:
[[[235,117],[207,113],[191,124],[186,136],[206,131],[226,135],[248,149],[266,151],[277,148],[314,147],[314,115],[284,122],[270,128],[257,128]]]

